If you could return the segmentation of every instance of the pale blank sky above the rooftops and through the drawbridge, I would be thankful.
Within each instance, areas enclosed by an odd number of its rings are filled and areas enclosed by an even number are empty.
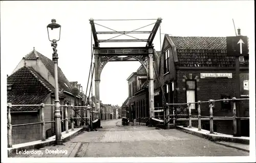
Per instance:
[[[157,19],[161,17],[161,42],[172,36],[235,36],[233,21],[241,34],[254,40],[254,1],[1,1],[1,74],[10,75],[33,47],[52,59],[47,24],[61,25],[58,66],[70,82],[86,92],[91,62],[89,19],[116,31],[132,31],[156,20],[96,21],[96,19]],[[153,24],[154,25],[154,24]],[[141,31],[151,31],[153,25]],[[110,31],[96,25],[96,31]],[[98,36],[108,39],[116,35]],[[148,35],[132,35],[147,39]],[[131,39],[122,36],[115,39]],[[154,39],[160,50],[159,30]],[[145,43],[100,43],[100,47],[145,46]],[[253,56],[254,57],[254,56]],[[4,65],[4,66],[3,66]],[[109,62],[101,73],[100,100],[122,105],[128,96],[127,77],[139,62]],[[93,95],[95,95],[93,81]]]

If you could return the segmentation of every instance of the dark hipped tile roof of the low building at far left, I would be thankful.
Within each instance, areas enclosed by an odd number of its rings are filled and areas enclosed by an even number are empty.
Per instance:
[[[7,91],[7,102],[12,104],[40,104],[54,91],[32,67],[22,67],[8,76],[7,84],[12,89]],[[40,106],[13,106],[11,111],[37,111]]]

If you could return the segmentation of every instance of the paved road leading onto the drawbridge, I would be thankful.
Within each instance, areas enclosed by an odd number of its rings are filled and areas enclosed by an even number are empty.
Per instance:
[[[154,157],[154,156],[248,156],[249,153],[225,147],[176,129],[124,126],[120,120],[102,122],[102,128],[84,132],[71,143],[81,142],[76,157]]]

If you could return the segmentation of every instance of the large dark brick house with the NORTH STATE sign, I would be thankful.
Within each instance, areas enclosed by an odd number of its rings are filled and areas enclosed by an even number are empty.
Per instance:
[[[226,37],[173,37],[164,36],[160,73],[168,103],[187,103],[235,97],[235,59],[226,55]],[[240,62],[241,98],[249,95],[244,80],[249,80],[249,61]],[[175,108],[187,114],[187,107]],[[191,105],[192,115],[198,115],[197,104]],[[232,116],[230,102],[215,102],[214,116]],[[208,104],[201,104],[201,115],[209,116]],[[249,101],[240,102],[241,117],[249,116]],[[183,124],[188,121],[177,121]],[[192,125],[197,127],[197,121]],[[249,121],[242,120],[242,133],[249,134]],[[209,130],[209,121],[202,121]],[[214,120],[214,131],[232,134],[232,120]]]

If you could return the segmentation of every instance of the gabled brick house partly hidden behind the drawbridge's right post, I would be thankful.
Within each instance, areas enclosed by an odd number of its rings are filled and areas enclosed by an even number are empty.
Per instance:
[[[161,51],[156,51],[154,49],[155,62],[154,67],[156,72],[160,71],[160,56]],[[154,70],[154,100],[155,106],[160,106],[160,85],[156,77],[156,72]],[[133,72],[128,78],[128,88],[129,88],[129,99],[128,102],[124,102],[122,107],[128,107],[129,112],[126,117],[132,122],[136,119],[136,122],[145,123],[149,119],[149,108],[148,108],[148,80],[147,74],[144,66],[140,66],[136,72]]]

